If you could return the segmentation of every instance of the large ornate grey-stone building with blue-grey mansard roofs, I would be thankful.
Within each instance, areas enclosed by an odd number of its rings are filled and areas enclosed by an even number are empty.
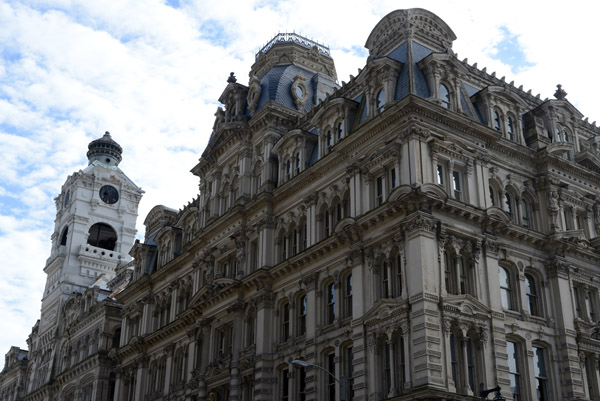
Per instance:
[[[600,131],[454,40],[399,10],[341,86],[295,34],[231,74],[132,249],[116,399],[600,399]]]

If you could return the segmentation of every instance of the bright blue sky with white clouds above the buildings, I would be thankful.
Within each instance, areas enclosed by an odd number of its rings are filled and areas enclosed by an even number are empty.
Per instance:
[[[278,32],[329,46],[338,80],[365,64],[389,12],[421,7],[454,31],[462,60],[541,98],[557,84],[600,120],[600,5],[591,1],[0,0],[0,353],[26,347],[39,318],[59,194],[110,131],[120,168],[150,209],[198,192],[197,163],[230,72],[247,85],[256,52]],[[10,328],[6,330],[6,328]]]

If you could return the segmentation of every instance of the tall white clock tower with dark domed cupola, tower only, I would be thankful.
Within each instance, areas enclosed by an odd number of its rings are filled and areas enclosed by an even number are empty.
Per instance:
[[[52,336],[61,304],[71,293],[108,282],[116,267],[130,260],[143,191],[119,169],[123,149],[110,133],[92,141],[88,149],[88,166],[69,176],[55,199],[38,331],[42,340]]]

